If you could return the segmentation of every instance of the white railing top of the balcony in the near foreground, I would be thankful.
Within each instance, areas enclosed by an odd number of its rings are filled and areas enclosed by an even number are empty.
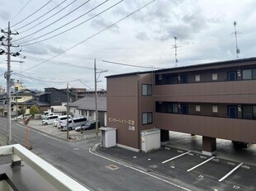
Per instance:
[[[20,144],[0,147],[0,156],[12,154],[12,162],[24,161],[46,181],[61,191],[88,191],[82,184],[65,175]]]

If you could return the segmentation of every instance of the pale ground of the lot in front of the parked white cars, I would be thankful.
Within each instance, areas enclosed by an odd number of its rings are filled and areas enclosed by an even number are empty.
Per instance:
[[[19,123],[22,123],[22,121],[20,121]],[[42,133],[49,134],[50,136],[58,137],[64,140],[67,139],[67,132],[60,131],[60,129],[57,127],[54,127],[53,124],[43,125],[41,122],[41,119],[32,119],[29,123],[29,126]],[[69,131],[69,137],[71,141],[76,141],[76,140],[96,137],[96,134],[95,134],[95,130],[88,130],[88,131],[84,131],[83,133],[72,130],[72,131]]]

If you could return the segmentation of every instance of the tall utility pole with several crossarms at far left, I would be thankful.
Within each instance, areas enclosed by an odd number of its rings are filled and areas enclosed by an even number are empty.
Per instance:
[[[12,144],[12,124],[11,124],[11,35],[18,35],[18,33],[12,33],[10,29],[10,22],[8,22],[7,31],[1,30],[3,34],[7,34],[7,44],[3,44],[3,46],[7,46],[7,72],[5,77],[7,78],[7,129],[8,129],[8,145]],[[18,46],[16,46],[18,47]]]

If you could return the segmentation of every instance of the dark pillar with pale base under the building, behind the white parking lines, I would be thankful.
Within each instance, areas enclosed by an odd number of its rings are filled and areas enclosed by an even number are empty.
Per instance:
[[[202,154],[212,156],[216,154],[216,138],[202,137]]]

